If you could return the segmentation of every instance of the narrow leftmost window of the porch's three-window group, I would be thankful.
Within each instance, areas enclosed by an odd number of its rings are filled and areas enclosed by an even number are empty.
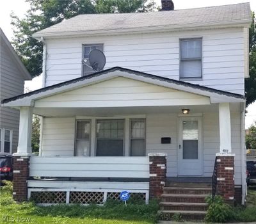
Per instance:
[[[90,156],[90,120],[76,121],[76,150],[75,156]]]

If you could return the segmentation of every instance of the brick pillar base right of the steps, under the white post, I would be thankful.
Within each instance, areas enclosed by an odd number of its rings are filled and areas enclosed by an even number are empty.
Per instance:
[[[217,157],[217,193],[229,204],[234,204],[234,154],[216,154]]]

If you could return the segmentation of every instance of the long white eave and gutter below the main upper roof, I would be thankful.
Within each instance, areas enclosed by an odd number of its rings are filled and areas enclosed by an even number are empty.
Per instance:
[[[170,26],[151,26],[151,27],[138,27],[138,28],[126,28],[126,29],[100,29],[100,30],[87,30],[87,31],[64,31],[64,32],[51,32],[51,33],[34,33],[32,36],[36,40],[44,38],[56,38],[63,36],[93,36],[93,35],[116,35],[127,33],[152,33],[159,31],[179,31],[179,30],[193,30],[193,29],[218,29],[218,28],[250,28],[252,19],[243,20],[230,20],[227,22],[200,22],[191,24],[179,24]]]

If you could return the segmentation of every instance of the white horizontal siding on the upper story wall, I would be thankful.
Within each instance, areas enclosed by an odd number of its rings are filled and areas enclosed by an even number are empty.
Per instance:
[[[242,28],[47,40],[46,86],[81,77],[82,44],[104,43],[106,66],[179,80],[179,40],[202,36],[203,79],[189,81],[244,94]]]

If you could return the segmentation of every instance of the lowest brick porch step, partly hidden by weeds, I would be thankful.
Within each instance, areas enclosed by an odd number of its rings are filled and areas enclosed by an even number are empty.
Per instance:
[[[158,211],[161,220],[171,220],[172,216],[177,213],[181,214],[182,218],[185,220],[204,220],[206,211]]]

